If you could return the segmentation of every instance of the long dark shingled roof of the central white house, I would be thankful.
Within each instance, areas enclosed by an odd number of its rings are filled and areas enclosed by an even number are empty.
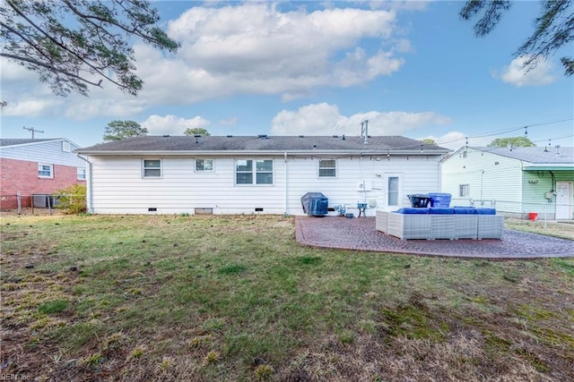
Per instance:
[[[364,143],[361,137],[344,136],[143,136],[127,140],[117,140],[101,143],[88,148],[77,150],[81,154],[122,154],[126,152],[194,152],[194,151],[275,151],[275,152],[305,152],[337,151],[337,152],[381,152],[413,151],[429,154],[445,154],[449,149],[436,145],[422,143],[400,136],[370,137],[369,143]]]

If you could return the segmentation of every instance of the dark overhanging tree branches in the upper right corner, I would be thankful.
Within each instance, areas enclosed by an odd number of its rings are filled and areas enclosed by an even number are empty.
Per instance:
[[[502,14],[510,8],[509,0],[469,0],[460,16],[470,20],[481,14],[474,24],[478,37],[489,34],[499,23]],[[525,68],[532,69],[540,60],[552,55],[574,40],[574,0],[544,0],[540,16],[535,19],[535,31],[514,53],[526,57]],[[571,49],[570,49],[571,52]],[[564,74],[574,74],[574,59],[561,57]]]

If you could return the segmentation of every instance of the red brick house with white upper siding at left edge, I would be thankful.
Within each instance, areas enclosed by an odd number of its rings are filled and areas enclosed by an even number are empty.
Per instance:
[[[33,195],[50,194],[74,183],[85,184],[86,162],[65,138],[0,139],[0,209],[30,207]]]

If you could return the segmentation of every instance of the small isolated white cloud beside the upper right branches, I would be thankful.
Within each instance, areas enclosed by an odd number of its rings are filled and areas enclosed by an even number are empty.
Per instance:
[[[509,66],[504,66],[499,72],[493,72],[492,77],[500,78],[503,82],[523,86],[543,86],[556,80],[552,75],[552,64],[541,60],[530,70],[524,67],[527,57],[520,56],[512,60]]]

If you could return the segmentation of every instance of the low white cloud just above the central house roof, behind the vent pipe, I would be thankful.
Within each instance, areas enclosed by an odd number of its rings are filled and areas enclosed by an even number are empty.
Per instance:
[[[341,115],[339,108],[326,103],[302,106],[297,111],[283,110],[274,116],[275,135],[360,135],[361,122],[369,120],[370,135],[403,135],[431,124],[447,124],[450,118],[433,112],[376,112]]]

